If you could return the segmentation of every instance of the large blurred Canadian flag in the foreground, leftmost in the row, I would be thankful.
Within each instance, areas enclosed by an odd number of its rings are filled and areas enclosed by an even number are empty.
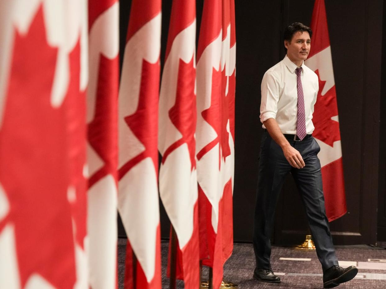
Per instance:
[[[0,288],[87,288],[87,2],[0,2]]]

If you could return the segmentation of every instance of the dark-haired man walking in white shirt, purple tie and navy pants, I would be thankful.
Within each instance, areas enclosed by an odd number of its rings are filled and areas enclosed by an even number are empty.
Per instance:
[[[311,47],[312,30],[293,23],[284,31],[287,54],[268,69],[261,82],[261,140],[254,220],[254,279],[280,283],[271,269],[271,230],[279,193],[291,172],[306,208],[313,240],[322,264],[325,288],[355,277],[358,269],[338,265],[325,213],[320,147],[312,137],[312,113],[318,95],[318,76],[304,65]]]

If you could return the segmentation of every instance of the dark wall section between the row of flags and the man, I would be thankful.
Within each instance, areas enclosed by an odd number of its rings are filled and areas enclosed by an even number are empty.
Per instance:
[[[245,2],[243,2],[245,3]],[[260,84],[265,71],[279,62],[281,1],[235,2],[236,102],[234,238],[252,240],[257,166],[262,133]]]

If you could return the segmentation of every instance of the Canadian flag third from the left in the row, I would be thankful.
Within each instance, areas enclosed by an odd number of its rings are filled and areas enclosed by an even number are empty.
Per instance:
[[[160,47],[161,0],[133,0],[118,120],[118,208],[128,237],[126,289],[161,288],[157,188]]]

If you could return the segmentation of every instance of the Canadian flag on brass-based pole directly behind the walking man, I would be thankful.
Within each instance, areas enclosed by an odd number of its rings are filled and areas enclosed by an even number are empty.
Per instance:
[[[313,113],[313,136],[320,146],[325,207],[329,221],[347,212],[344,190],[342,148],[335,92],[334,70],[324,0],[316,0],[311,20],[310,54],[305,61],[319,78],[319,92]]]

